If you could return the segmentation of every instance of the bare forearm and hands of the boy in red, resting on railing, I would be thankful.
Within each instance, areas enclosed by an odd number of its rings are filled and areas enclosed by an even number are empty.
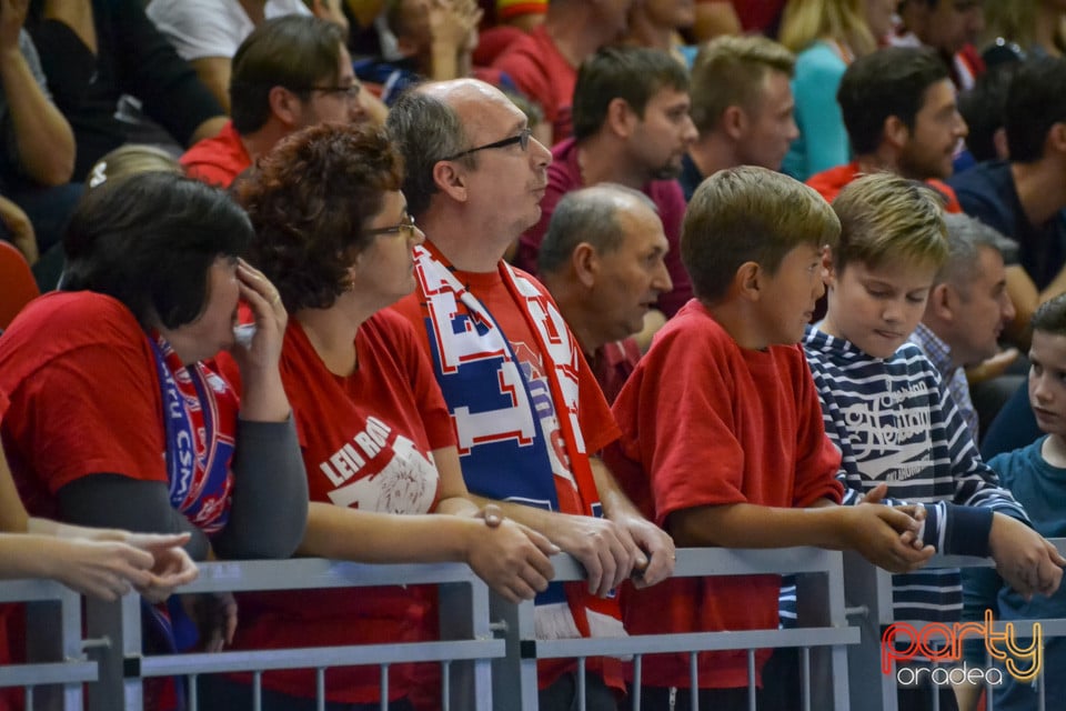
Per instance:
[[[674,511],[666,522],[678,547],[784,548],[816,545],[856,550],[889,572],[917,570],[933,548],[911,541],[921,523],[904,511],[873,503],[839,507],[823,499],[807,509],[751,503]],[[911,537],[904,534],[909,532]]]

